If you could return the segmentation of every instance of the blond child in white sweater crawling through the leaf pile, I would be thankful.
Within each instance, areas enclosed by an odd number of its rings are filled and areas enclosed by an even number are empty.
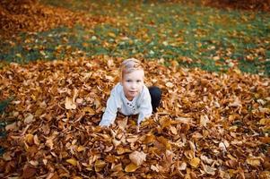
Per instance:
[[[117,113],[137,115],[139,125],[145,117],[156,112],[161,101],[161,90],[144,85],[143,64],[135,58],[126,59],[120,68],[120,82],[111,90],[100,126],[113,124]]]

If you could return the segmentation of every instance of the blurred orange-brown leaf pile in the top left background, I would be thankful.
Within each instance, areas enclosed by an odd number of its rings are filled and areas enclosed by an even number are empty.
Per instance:
[[[73,27],[76,23],[92,27],[105,21],[111,20],[108,17],[94,17],[65,8],[39,4],[36,0],[0,2],[1,33],[7,36],[17,32],[51,30],[59,26]]]

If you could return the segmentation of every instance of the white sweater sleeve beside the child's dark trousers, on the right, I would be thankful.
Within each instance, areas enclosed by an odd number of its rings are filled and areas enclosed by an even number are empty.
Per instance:
[[[142,101],[139,104],[139,116],[137,124],[141,124],[145,117],[150,117],[152,115],[152,104],[151,104],[151,96],[149,90],[147,89],[144,92],[144,96]]]

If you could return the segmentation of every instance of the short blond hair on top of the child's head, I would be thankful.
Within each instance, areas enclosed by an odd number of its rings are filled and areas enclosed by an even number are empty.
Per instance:
[[[122,81],[124,74],[134,72],[135,70],[144,71],[144,66],[139,60],[135,58],[128,58],[124,60],[120,67],[120,81]]]

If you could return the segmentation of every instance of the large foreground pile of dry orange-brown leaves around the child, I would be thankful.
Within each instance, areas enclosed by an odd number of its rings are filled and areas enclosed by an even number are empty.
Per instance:
[[[10,64],[0,99],[1,177],[269,178],[270,80],[144,62],[146,84],[162,90],[158,113],[136,128],[118,115],[100,128],[122,59]]]

